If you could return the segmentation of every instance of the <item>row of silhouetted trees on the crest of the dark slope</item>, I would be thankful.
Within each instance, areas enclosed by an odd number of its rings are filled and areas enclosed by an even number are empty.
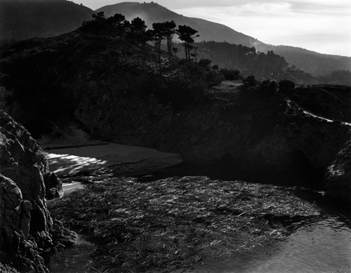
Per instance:
[[[87,32],[101,32],[109,29],[117,32],[117,35],[128,40],[129,43],[136,46],[139,62],[145,62],[147,53],[147,44],[152,42],[156,51],[155,64],[157,71],[161,70],[161,44],[166,41],[166,52],[168,55],[168,63],[171,63],[173,58],[177,59],[178,48],[173,46],[173,35],[177,34],[181,44],[184,47],[185,60],[190,62],[193,58],[196,59],[196,54],[192,53],[195,48],[192,46],[194,38],[199,36],[197,30],[192,29],[187,25],[179,25],[177,28],[176,22],[154,22],[152,29],[147,29],[145,21],[140,18],[134,18],[129,22],[124,15],[116,13],[115,15],[105,18],[104,12],[100,11],[93,15],[94,20],[84,22],[82,29]]]

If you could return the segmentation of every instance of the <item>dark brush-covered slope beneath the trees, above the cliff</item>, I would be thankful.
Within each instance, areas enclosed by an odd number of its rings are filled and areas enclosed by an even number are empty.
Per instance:
[[[204,98],[206,88],[222,79],[201,62],[178,62],[173,51],[168,56],[155,52],[147,41],[155,41],[156,30],[147,32],[140,18],[128,22],[123,15],[105,18],[103,13],[93,18],[70,34],[1,48],[2,99],[34,136],[51,131],[62,117],[72,118],[84,88],[71,84],[81,75],[99,83],[121,81],[117,93],[152,96],[176,109]],[[184,35],[190,53],[192,34]]]

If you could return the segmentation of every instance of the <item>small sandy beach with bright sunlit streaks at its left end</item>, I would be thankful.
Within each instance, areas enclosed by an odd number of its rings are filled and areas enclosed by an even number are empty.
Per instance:
[[[183,161],[179,154],[107,142],[92,143],[83,147],[55,145],[44,147],[44,152],[50,171],[57,175],[72,175],[111,166],[128,166],[130,171],[152,171]]]

